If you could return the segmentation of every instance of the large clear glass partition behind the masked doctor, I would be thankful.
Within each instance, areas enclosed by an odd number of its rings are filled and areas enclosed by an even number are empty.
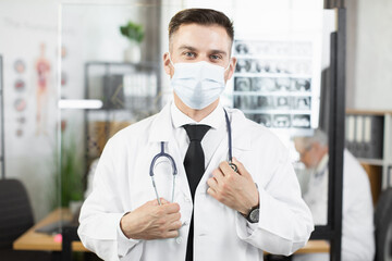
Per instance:
[[[322,1],[66,3],[61,5],[59,53],[64,220],[77,224],[108,139],[172,99],[162,66],[167,27],[177,11],[191,7],[221,10],[234,21],[237,64],[221,101],[281,138],[304,197],[314,200],[308,184],[318,172],[328,172],[328,153],[308,165],[304,158],[315,153],[315,139],[307,138],[318,128],[326,133],[320,142],[328,148],[329,37],[334,30],[334,13],[323,11]],[[323,182],[326,189],[314,195],[326,194],[319,224],[327,224],[328,179]]]

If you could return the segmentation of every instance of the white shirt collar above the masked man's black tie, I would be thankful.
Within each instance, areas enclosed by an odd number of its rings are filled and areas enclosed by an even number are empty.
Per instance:
[[[219,102],[217,108],[210,114],[200,122],[196,122],[180,111],[173,101],[171,104],[171,116],[174,128],[182,127],[185,124],[205,124],[211,128],[218,129],[224,121],[224,111],[222,104]]]

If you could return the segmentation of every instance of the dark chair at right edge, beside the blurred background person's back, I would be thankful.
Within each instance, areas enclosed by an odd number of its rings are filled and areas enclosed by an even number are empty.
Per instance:
[[[392,187],[380,196],[375,212],[375,261],[392,260]]]

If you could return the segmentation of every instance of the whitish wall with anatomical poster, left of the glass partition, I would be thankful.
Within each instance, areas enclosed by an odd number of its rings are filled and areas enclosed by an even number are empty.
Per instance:
[[[58,8],[54,1],[1,1],[0,53],[4,59],[5,175],[27,188],[36,220],[53,201],[56,149],[56,53]],[[37,63],[45,45],[45,87],[38,87]],[[19,73],[15,62],[23,61]],[[16,80],[25,83],[15,88]],[[38,99],[40,99],[38,101]],[[37,104],[40,103],[41,107]]]

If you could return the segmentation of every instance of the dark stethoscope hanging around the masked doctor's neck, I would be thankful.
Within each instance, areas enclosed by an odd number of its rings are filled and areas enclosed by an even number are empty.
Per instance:
[[[225,119],[225,122],[226,122],[226,128],[228,128],[228,139],[229,139],[229,165],[233,169],[233,171],[235,172],[238,172],[238,169],[237,166],[233,163],[233,154],[232,154],[232,133],[231,133],[231,124],[230,124],[230,120],[229,120],[229,115],[228,115],[228,112],[226,110],[224,110],[224,119]],[[152,186],[154,186],[154,190],[156,192],[156,196],[157,196],[157,200],[158,200],[158,203],[159,204],[162,204],[161,203],[161,200],[159,198],[159,195],[158,195],[158,190],[157,190],[157,185],[156,185],[156,182],[155,182],[155,178],[154,178],[154,167],[155,167],[155,164],[156,164],[156,161],[163,157],[163,158],[168,158],[168,160],[170,161],[171,165],[172,165],[172,170],[173,170],[173,185],[172,185],[172,200],[171,202],[174,202],[174,188],[175,188],[175,177],[176,177],[176,174],[177,174],[177,169],[176,169],[176,165],[175,165],[175,162],[174,162],[174,159],[173,157],[171,157],[170,154],[166,153],[164,152],[164,141],[161,141],[161,151],[156,154],[151,161],[151,164],[150,164],[150,171],[149,171],[149,175],[151,177],[151,181],[152,181]]]

